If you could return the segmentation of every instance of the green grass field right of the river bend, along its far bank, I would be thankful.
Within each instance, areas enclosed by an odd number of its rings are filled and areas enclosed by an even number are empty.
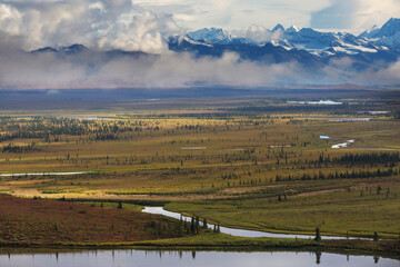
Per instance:
[[[334,191],[309,197],[171,202],[172,211],[196,215],[223,226],[273,233],[310,234],[319,227],[323,235],[398,238],[400,233],[400,188],[369,195],[360,190]]]

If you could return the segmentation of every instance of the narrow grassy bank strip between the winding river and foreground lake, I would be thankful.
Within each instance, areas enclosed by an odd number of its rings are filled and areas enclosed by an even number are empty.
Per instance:
[[[54,244],[0,244],[0,253],[10,249],[158,249],[158,250],[306,250],[336,251],[340,254],[386,256],[400,259],[400,240],[321,240],[288,238],[244,238],[210,230],[197,236],[133,243],[54,243]]]

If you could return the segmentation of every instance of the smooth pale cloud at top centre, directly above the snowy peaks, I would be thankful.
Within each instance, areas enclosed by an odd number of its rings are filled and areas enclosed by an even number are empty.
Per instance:
[[[251,24],[272,28],[309,26],[311,13],[329,6],[329,0],[132,0],[153,11],[173,13],[177,22],[189,29],[220,27],[244,30]]]

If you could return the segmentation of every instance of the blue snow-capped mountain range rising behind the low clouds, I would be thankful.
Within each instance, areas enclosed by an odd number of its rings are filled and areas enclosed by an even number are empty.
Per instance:
[[[359,36],[346,32],[321,32],[296,26],[284,29],[278,24],[272,30],[252,26],[243,34],[233,34],[223,29],[201,29],[184,36],[167,39],[169,50],[189,52],[196,58],[220,58],[234,52],[240,60],[261,65],[296,61],[307,69],[318,69],[340,59],[356,71],[379,70],[398,60],[400,56],[400,19],[390,19],[381,28],[373,27]],[[116,57],[158,57],[141,51],[94,51],[82,44],[60,48],[41,48],[31,53],[57,53],[60,57],[93,55],[101,60]]]

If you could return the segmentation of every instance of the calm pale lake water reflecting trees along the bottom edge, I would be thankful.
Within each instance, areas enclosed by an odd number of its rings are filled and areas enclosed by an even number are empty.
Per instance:
[[[399,260],[372,256],[294,251],[157,251],[91,250],[53,254],[0,255],[2,267],[124,267],[124,266],[207,266],[207,267],[391,267]]]

